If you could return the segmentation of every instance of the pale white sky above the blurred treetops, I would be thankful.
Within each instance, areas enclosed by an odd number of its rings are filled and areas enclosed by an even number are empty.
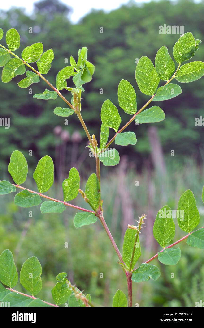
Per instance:
[[[149,2],[149,0],[134,0],[135,2]],[[28,13],[33,10],[33,4],[36,0],[1,0],[0,9],[8,10],[12,6],[24,7]],[[73,8],[71,14],[72,22],[77,22],[81,17],[93,9],[103,9],[110,11],[120,7],[122,4],[126,4],[129,0],[81,0],[81,1],[70,1],[62,0],[63,3]]]

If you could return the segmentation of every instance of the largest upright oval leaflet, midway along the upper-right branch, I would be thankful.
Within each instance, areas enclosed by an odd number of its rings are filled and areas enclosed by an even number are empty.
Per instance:
[[[143,56],[139,59],[135,70],[135,79],[141,92],[147,95],[153,95],[156,92],[160,78],[148,57]]]

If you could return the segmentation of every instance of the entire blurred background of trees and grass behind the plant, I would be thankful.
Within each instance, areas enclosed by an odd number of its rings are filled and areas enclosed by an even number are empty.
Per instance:
[[[88,60],[96,70],[82,94],[82,115],[90,134],[94,133],[97,139],[100,138],[103,101],[109,98],[119,108],[117,87],[121,79],[134,86],[138,108],[149,99],[137,87],[135,61],[147,55],[154,62],[162,45],[168,47],[172,56],[173,45],[179,38],[175,34],[159,34],[160,25],[185,26],[185,32],[191,31],[196,39],[204,40],[203,1],[159,1],[143,5],[130,2],[109,13],[93,10],[77,24],[71,24],[69,12],[70,8],[64,4],[46,0],[36,3],[31,15],[19,8],[0,11],[0,27],[4,31],[15,27],[20,33],[18,55],[35,42],[42,42],[44,50],[53,49],[55,59],[46,76],[52,84],[55,84],[57,72],[66,66],[66,58],[69,65],[70,55],[76,59],[79,48],[88,48]],[[29,33],[30,27],[32,33]],[[103,33],[100,33],[101,27]],[[201,44],[199,49],[191,61],[203,61],[204,45]],[[63,107],[63,101],[59,97],[49,101],[32,98],[29,89],[18,87],[17,82],[21,79],[16,77],[10,83],[0,85],[0,117],[10,117],[10,129],[0,127],[0,177],[11,181],[6,173],[7,165],[12,151],[18,149],[26,156],[30,168],[30,179],[25,186],[35,190],[32,173],[39,158],[49,154],[55,162],[56,181],[48,195],[62,198],[60,186],[69,169],[73,165],[78,168],[84,187],[88,175],[95,171],[95,161],[85,148],[87,139],[77,117],[69,117],[70,124],[65,126],[63,118],[53,114],[56,106]],[[68,86],[73,86],[71,79]],[[151,125],[138,127],[134,123],[129,130],[137,135],[136,146],[117,147],[121,156],[119,167],[102,168],[104,215],[121,251],[127,224],[134,224],[137,216],[147,214],[139,264],[159,250],[152,234],[156,213],[165,204],[176,209],[179,196],[186,189],[193,191],[203,222],[203,127],[195,127],[195,118],[203,112],[204,79],[180,86],[181,95],[159,104],[166,114],[166,120],[156,124],[165,163],[163,173],[159,172],[163,164],[157,166],[152,159],[151,134],[148,134]],[[47,85],[40,81],[31,88],[33,94],[41,93]],[[62,93],[71,100],[68,91]],[[125,124],[130,117],[121,109],[119,113]],[[29,156],[29,150],[33,151],[33,156]],[[170,156],[171,150],[174,150],[174,156]],[[138,187],[135,181],[139,181]],[[74,203],[86,206],[80,196]],[[117,289],[126,293],[125,275],[100,223],[76,230],[74,215],[75,211],[69,208],[61,215],[41,215],[39,207],[18,208],[13,205],[13,195],[1,196],[0,253],[9,248],[18,271],[26,258],[38,257],[43,269],[43,288],[39,297],[44,300],[52,301],[50,291],[56,283],[55,277],[59,272],[67,271],[70,281],[84,289],[85,294],[90,293],[96,306],[110,306]],[[178,226],[176,231],[175,240],[185,235]],[[66,242],[68,248],[64,247]],[[156,283],[133,284],[134,303],[139,306],[194,306],[196,301],[203,299],[204,254],[185,242],[180,248],[182,257],[176,267],[162,266],[157,260],[152,262],[161,270]],[[174,279],[170,278],[172,272]],[[23,291],[20,284],[16,289]]]

